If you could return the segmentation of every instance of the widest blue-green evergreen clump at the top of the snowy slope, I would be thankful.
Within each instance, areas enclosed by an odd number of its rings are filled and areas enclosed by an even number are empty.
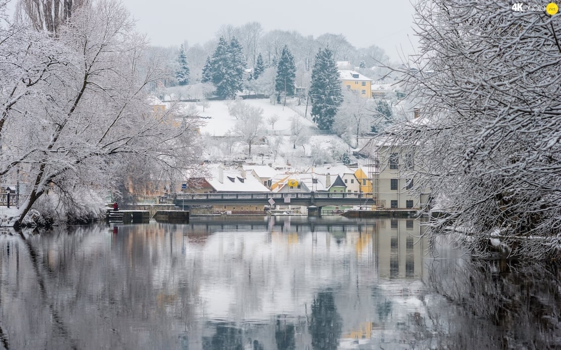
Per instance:
[[[203,82],[212,82],[215,94],[222,99],[233,99],[242,91],[245,58],[242,46],[236,38],[227,43],[220,37],[212,57],[208,58],[203,68]]]

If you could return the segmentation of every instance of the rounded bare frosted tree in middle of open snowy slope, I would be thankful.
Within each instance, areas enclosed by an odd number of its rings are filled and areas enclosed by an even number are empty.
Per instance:
[[[231,108],[230,114],[237,119],[233,134],[249,146],[248,153],[251,155],[251,146],[265,136],[263,108],[251,106],[246,102],[236,101]]]

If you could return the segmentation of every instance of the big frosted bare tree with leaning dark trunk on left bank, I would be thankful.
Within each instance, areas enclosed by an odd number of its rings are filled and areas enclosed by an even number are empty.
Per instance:
[[[76,195],[111,192],[130,162],[193,169],[198,125],[153,112],[145,87],[170,74],[121,4],[73,11],[56,37],[19,24],[0,35],[0,175],[25,183],[7,223],[21,223],[47,192],[77,205]]]

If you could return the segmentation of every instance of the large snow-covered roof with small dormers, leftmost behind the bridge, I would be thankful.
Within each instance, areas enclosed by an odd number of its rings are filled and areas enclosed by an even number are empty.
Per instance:
[[[222,173],[222,175],[221,175]],[[242,176],[238,170],[211,170],[211,177],[206,179],[217,192],[270,192],[261,181],[253,176]]]

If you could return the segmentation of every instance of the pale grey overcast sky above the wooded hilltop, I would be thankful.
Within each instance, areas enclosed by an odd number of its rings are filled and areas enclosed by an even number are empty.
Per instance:
[[[213,39],[222,25],[256,21],[265,31],[295,30],[302,35],[343,34],[356,48],[378,45],[391,59],[412,54],[410,0],[122,0],[151,44],[192,45]]]

